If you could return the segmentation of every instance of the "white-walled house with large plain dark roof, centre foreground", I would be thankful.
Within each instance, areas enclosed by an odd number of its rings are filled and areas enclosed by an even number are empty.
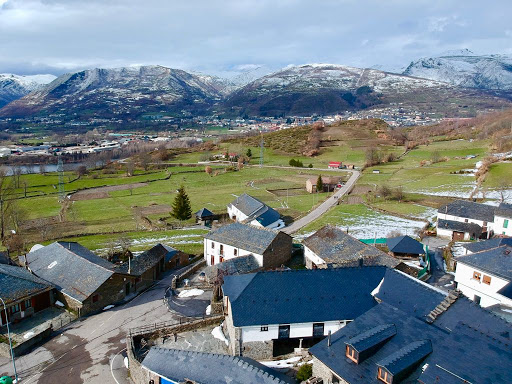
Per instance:
[[[377,305],[371,292],[385,271],[363,267],[226,276],[222,292],[230,353],[260,359],[310,347]]]

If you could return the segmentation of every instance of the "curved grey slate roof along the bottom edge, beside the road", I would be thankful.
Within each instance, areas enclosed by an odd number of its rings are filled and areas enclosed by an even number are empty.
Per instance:
[[[291,384],[296,381],[247,357],[153,347],[142,366],[173,382]]]

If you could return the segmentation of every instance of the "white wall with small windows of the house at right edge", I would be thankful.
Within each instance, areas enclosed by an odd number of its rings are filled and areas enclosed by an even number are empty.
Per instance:
[[[475,271],[481,274],[480,281],[473,278],[473,272]],[[491,277],[490,285],[483,283],[484,275]],[[509,283],[509,281],[505,279],[458,261],[455,271],[455,281],[457,282],[457,288],[470,300],[474,300],[475,295],[480,296],[480,305],[482,307],[489,307],[495,304],[512,306],[511,299],[497,293]]]

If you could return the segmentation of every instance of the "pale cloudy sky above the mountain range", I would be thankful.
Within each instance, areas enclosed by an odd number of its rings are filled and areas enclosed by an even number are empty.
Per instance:
[[[511,14],[511,0],[0,0],[0,73],[398,69],[462,48],[512,54]]]

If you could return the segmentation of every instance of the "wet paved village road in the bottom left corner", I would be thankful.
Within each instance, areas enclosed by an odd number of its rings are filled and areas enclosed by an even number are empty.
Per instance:
[[[17,358],[20,383],[131,383],[122,364],[126,331],[176,318],[163,300],[171,280],[172,274],[125,305],[72,323],[61,334]],[[3,373],[12,374],[12,365],[10,360],[0,358],[0,376]]]

